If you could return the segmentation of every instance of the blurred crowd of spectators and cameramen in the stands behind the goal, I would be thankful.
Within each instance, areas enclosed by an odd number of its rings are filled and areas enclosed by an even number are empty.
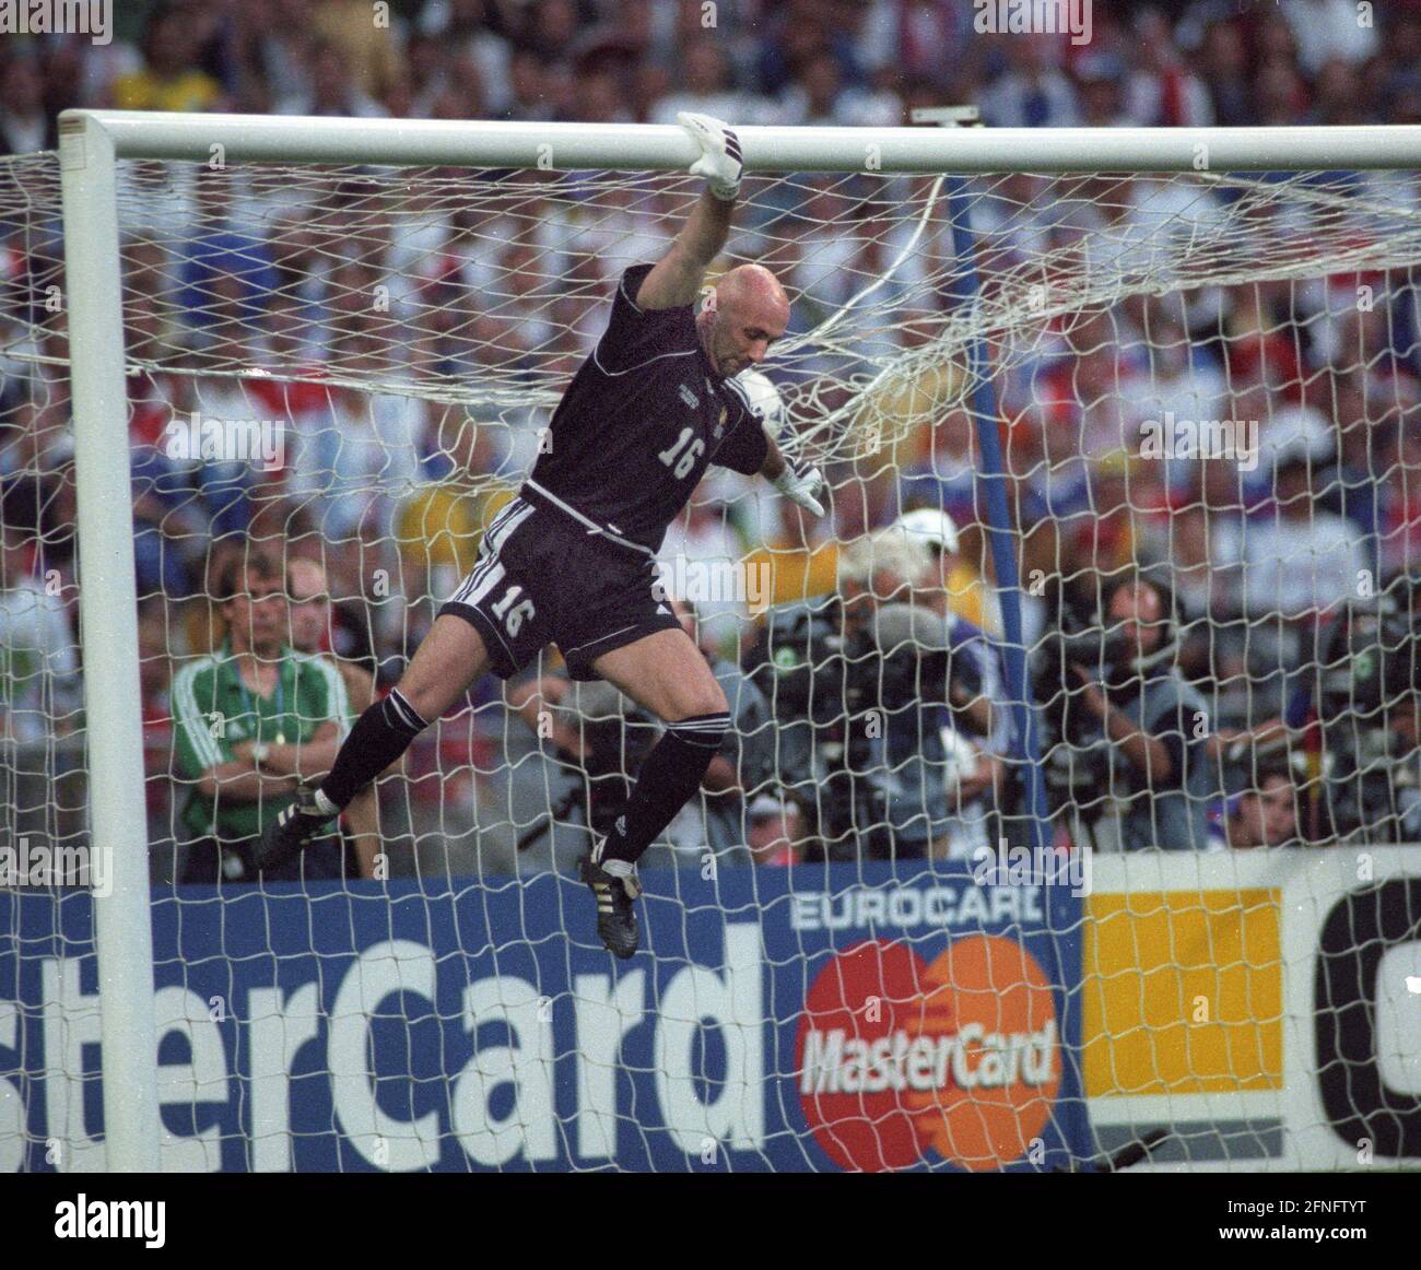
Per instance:
[[[47,284],[61,281],[57,203],[37,222],[21,197],[27,179],[53,188],[53,170],[45,178],[26,156],[55,148],[58,111],[665,124],[693,109],[733,124],[897,125],[917,105],[971,102],[988,126],[1421,124],[1412,0],[1377,6],[1376,26],[1346,0],[1100,0],[1091,16],[1091,37],[1077,44],[980,34],[965,0],[428,0],[392,4],[388,27],[364,0],[190,0],[148,6],[141,28],[107,45],[4,37],[0,710],[20,756],[11,778],[27,790],[11,801],[17,815],[50,815],[54,831],[50,797],[36,791],[72,771],[78,759],[61,740],[81,727],[67,348],[63,305],[45,303]],[[1327,175],[1343,197],[1366,190],[1421,210],[1417,173],[1385,182]],[[398,207],[396,189],[355,169],[124,173],[159,875],[182,875],[182,857],[175,865],[166,850],[173,838],[223,837],[220,797],[203,786],[210,770],[250,763],[232,749],[242,739],[222,749],[198,736],[207,712],[189,702],[185,717],[175,676],[213,651],[240,652],[225,641],[261,601],[286,609],[277,625],[306,624],[283,658],[330,652],[365,668],[374,690],[392,682],[536,453],[549,402],[534,389],[560,384],[590,351],[620,270],[664,249],[684,199],[675,185],[499,173],[472,183],[428,173]],[[924,186],[892,189],[914,202]],[[1087,268],[1124,274],[1162,223],[1208,236],[1228,212],[1223,192],[1191,192],[1181,205],[1175,186],[1145,175],[1091,178],[1064,200],[1053,197],[1059,185],[1025,175],[976,193],[989,277],[1063,244],[1069,254],[1071,243],[1094,253]],[[874,338],[909,349],[915,322],[961,301],[949,230],[914,240],[881,189],[787,178],[762,183],[732,246],[784,277],[791,334],[887,276],[875,311],[895,321]],[[1401,665],[1410,656],[1415,671],[1412,646],[1393,639],[1374,685],[1333,673],[1358,663],[1353,641],[1368,638],[1373,611],[1385,611],[1387,631],[1411,629],[1421,571],[1414,273],[1147,290],[1063,315],[996,384],[1023,638],[1061,838],[1097,850],[1421,838],[1421,685]],[[767,369],[774,378],[773,359]],[[786,369],[791,388],[826,375],[843,384],[861,365],[806,354]],[[401,392],[411,379],[426,391]],[[460,398],[468,382],[522,389],[531,403],[480,416]],[[290,420],[297,443],[257,466],[175,455],[171,425],[193,412]],[[1253,420],[1253,462],[1151,457],[1141,428],[1167,415]],[[952,405],[911,429],[895,462],[837,463],[823,523],[733,473],[708,477],[664,560],[743,561],[752,577],[763,567],[770,612],[722,595],[692,597],[685,609],[718,678],[735,683],[740,739],[699,820],[672,827],[668,858],[961,857],[1025,823],[980,463],[976,423]],[[254,540],[280,544],[286,563],[244,571]],[[269,588],[271,568],[284,581]],[[244,590],[257,581],[267,590]],[[894,622],[908,624],[912,665],[894,662],[882,638]],[[851,659],[826,652],[844,644],[863,651],[880,692],[891,675],[912,692],[875,698],[871,685],[850,685]],[[566,808],[577,797],[566,796],[580,791],[594,750],[611,773],[645,724],[612,703],[617,729],[591,739],[593,716],[547,659],[507,696],[492,680],[476,686],[472,709],[411,751],[408,784],[388,784],[378,813],[348,825],[362,872],[378,868],[377,815],[379,838],[414,842],[421,868],[546,865],[580,851],[566,827],[539,835],[541,814],[563,807],[576,818]],[[833,690],[826,675],[840,679]],[[941,690],[925,690],[929,679]],[[246,690],[240,676],[229,686]],[[308,722],[340,732],[347,696],[331,680],[320,698],[328,713]],[[816,713],[826,700],[833,719]],[[887,716],[884,734],[855,749],[854,720],[874,712]],[[40,778],[26,783],[27,771]],[[1329,797],[1343,771],[1346,796]],[[298,774],[280,773],[280,790]],[[279,807],[260,784],[242,797]],[[229,811],[227,835],[249,834],[246,808]],[[240,861],[229,862],[226,875],[242,876]],[[414,867],[399,848],[392,868]]]

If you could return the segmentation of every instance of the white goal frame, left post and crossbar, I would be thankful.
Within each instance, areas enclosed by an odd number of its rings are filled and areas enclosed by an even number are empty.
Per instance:
[[[737,128],[747,172],[1088,173],[1418,169],[1421,125],[1282,128]],[[134,514],[119,263],[119,159],[682,170],[672,125],[330,119],[64,111],[60,169],[68,304],[80,622],[92,845],[112,891],[94,898],[109,1171],[156,1172],[153,949],[144,798]],[[969,234],[971,236],[971,234]],[[70,280],[82,280],[81,284]],[[979,419],[979,428],[982,420]],[[985,429],[983,429],[985,430]],[[995,449],[995,447],[993,447]],[[119,462],[117,456],[122,456]],[[988,479],[993,473],[983,472]],[[1000,473],[999,473],[1000,476]],[[995,482],[1000,484],[1000,480]],[[1006,537],[1005,527],[993,537]],[[1010,548],[1010,544],[1006,544]],[[1002,563],[1000,541],[993,543]],[[999,570],[999,577],[1000,577]],[[1003,587],[1020,644],[1016,568]],[[1015,621],[1013,621],[1015,614]],[[1015,631],[1012,629],[1015,626]],[[1029,773],[1036,780],[1039,773]]]

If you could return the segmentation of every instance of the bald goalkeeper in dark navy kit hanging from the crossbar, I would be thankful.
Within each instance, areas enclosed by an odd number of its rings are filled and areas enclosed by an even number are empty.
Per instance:
[[[823,516],[818,472],[786,463],[733,379],[784,334],[783,287],[745,264],[692,307],[730,232],[740,142],[705,115],[678,121],[701,149],[691,172],[705,192],[666,254],[622,274],[519,497],[399,685],[361,715],[320,788],[303,788],[263,835],[260,867],[311,842],[486,669],[507,679],[554,642],[574,679],[607,679],[666,724],[612,831],[581,862],[603,943],[618,957],[637,950],[637,859],[699,788],[730,726],[706,659],[654,591],[662,536],[712,462],[759,473]]]

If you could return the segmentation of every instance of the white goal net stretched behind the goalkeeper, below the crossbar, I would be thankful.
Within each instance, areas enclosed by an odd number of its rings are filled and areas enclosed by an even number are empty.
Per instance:
[[[713,273],[786,284],[746,386],[830,509],[712,469],[668,534],[736,734],[620,973],[574,862],[657,732],[553,648],[352,805],[330,881],[253,875],[294,780],[233,764],[396,682],[698,182],[117,190],[166,1166],[1421,1156],[1414,1024],[1358,1057],[1349,996],[1370,966],[1401,1017],[1421,906],[1417,172],[747,176]],[[4,161],[6,1168],[104,1162],[84,286],[55,156]],[[233,669],[261,605],[290,700]]]

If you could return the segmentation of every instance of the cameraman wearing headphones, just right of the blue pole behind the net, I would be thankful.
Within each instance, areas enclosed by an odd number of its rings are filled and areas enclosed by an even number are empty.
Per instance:
[[[1097,851],[1202,851],[1216,784],[1211,720],[1174,666],[1174,597],[1131,574],[1107,581],[1100,599],[1103,619],[1073,631],[1067,615],[1037,659],[1053,810],[1069,810]]]

